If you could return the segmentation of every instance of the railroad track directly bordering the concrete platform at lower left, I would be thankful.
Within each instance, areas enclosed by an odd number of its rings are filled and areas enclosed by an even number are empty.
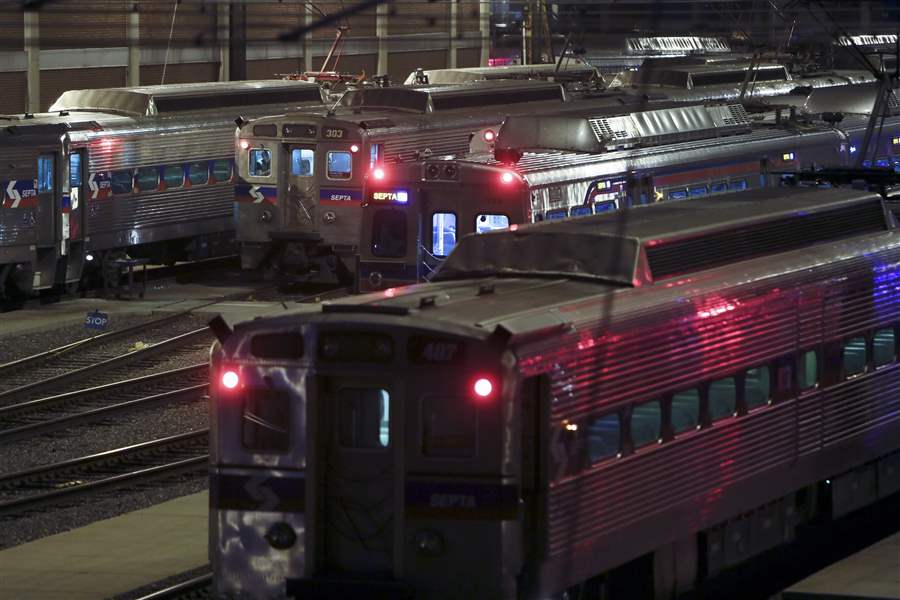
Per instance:
[[[0,475],[0,519],[171,477],[205,475],[209,430]]]

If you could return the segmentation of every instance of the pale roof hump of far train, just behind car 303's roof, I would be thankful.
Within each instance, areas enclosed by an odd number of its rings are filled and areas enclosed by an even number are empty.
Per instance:
[[[498,67],[464,67],[458,69],[427,69],[422,71],[428,77],[429,84],[458,84],[470,81],[486,81],[496,79],[542,79],[553,77],[556,80],[602,80],[597,68],[579,60],[563,60],[557,69],[556,64],[505,65]],[[405,85],[416,83],[418,71],[409,74]]]

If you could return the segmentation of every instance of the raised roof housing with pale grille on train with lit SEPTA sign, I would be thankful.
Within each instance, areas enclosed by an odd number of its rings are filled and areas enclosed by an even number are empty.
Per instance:
[[[622,112],[611,106],[565,114],[513,115],[497,135],[500,150],[570,150],[606,152],[638,145],[708,139],[750,131],[750,117],[741,104],[642,105]]]

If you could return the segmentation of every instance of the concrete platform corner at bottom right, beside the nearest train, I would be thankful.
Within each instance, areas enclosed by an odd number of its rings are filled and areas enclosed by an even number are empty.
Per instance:
[[[900,533],[848,556],[789,588],[782,600],[900,598]]]

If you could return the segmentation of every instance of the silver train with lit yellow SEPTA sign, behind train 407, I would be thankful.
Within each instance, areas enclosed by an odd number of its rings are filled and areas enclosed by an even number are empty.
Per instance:
[[[358,289],[425,280],[467,234],[659,201],[717,201],[779,185],[773,172],[846,165],[863,127],[857,120],[848,131],[796,121],[751,128],[739,104],[644,108],[510,117],[493,154],[395,165],[369,181]],[[895,147],[897,135],[900,119],[892,119],[882,148]]]

